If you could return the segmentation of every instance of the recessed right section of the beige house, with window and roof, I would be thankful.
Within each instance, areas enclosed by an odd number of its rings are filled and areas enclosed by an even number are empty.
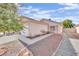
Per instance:
[[[52,21],[52,20],[50,20],[50,19],[42,19],[42,20],[40,20],[40,21],[49,24],[49,32],[62,33],[62,31],[63,31],[63,26],[62,26],[61,23]]]

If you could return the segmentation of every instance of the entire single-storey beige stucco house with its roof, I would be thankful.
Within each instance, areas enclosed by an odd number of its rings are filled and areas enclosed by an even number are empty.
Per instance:
[[[22,17],[20,21],[24,25],[24,29],[22,31],[25,36],[33,37],[44,34],[45,32],[62,33],[63,31],[63,26],[55,21],[46,19],[37,21],[28,17]]]

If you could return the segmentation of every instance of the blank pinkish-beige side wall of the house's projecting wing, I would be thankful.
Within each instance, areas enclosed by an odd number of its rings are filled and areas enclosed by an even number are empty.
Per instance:
[[[48,31],[48,25],[38,24],[38,23],[30,23],[30,32],[31,36],[35,36],[38,34],[42,34],[41,31]]]

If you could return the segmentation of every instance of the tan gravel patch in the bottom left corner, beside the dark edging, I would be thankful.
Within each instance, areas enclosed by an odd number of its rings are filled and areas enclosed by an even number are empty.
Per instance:
[[[16,56],[18,52],[22,48],[24,48],[24,45],[19,40],[15,40],[15,41],[0,45],[0,47],[3,47],[3,46],[8,48],[7,53],[5,53],[3,56]]]

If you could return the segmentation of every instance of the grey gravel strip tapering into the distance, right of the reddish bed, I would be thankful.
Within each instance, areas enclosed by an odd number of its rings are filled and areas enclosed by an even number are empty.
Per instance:
[[[66,33],[63,35],[63,41],[56,52],[56,56],[76,56],[75,50],[72,44],[69,41],[69,38]]]

